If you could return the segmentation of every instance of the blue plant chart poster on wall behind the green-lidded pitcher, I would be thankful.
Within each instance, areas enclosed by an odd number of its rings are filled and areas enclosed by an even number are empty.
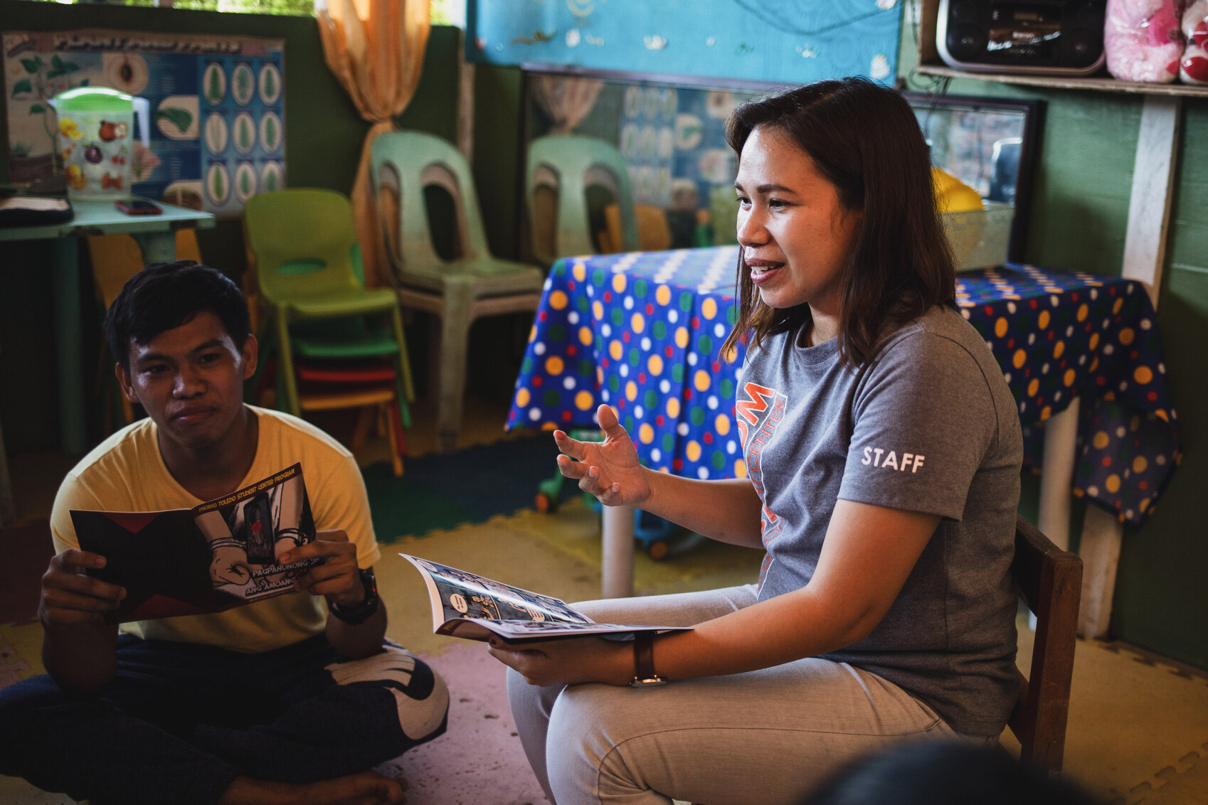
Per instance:
[[[134,192],[238,215],[285,186],[283,40],[129,31],[4,34],[8,177],[60,173],[47,103],[75,87],[112,87],[151,105],[151,147],[132,138]]]

